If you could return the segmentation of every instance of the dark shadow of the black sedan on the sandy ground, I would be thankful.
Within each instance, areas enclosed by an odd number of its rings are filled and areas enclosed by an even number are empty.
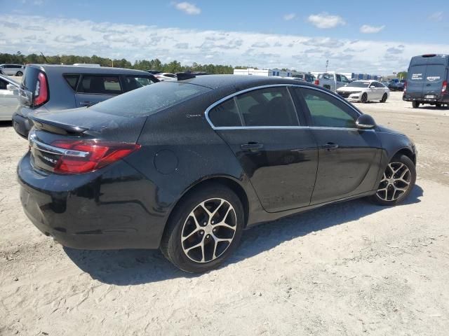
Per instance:
[[[398,207],[418,203],[422,195],[422,188],[415,186],[406,202]],[[386,208],[366,200],[354,200],[330,204],[320,209],[257,225],[243,232],[239,248],[222,267],[251,258],[290,239],[356,221],[383,209]],[[201,276],[180,271],[157,250],[87,251],[67,247],[64,250],[68,257],[93,279],[117,286]]]

